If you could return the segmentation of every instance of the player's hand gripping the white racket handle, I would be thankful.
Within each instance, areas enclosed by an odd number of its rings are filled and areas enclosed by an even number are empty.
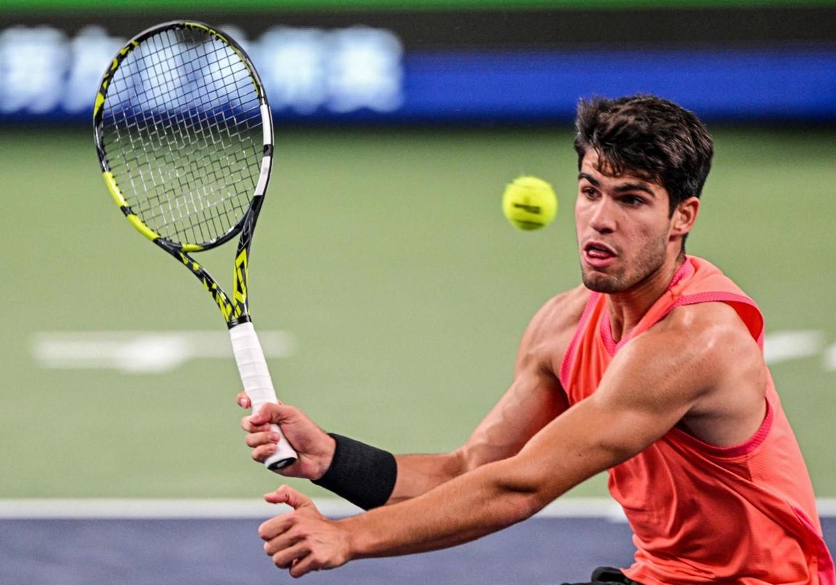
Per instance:
[[[246,394],[238,394],[237,398],[238,404],[245,408],[249,406]],[[253,448],[253,460],[263,462],[276,451],[278,433],[270,430],[271,424],[278,425],[298,455],[293,465],[277,473],[308,480],[318,480],[325,475],[334,459],[336,442],[301,410],[288,404],[264,404],[256,414],[241,420],[243,430],[248,433],[247,445]]]

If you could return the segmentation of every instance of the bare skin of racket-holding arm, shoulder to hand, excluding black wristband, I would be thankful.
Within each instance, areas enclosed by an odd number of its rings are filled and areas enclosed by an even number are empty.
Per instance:
[[[514,379],[461,448],[438,455],[398,455],[397,481],[387,505],[409,500],[480,465],[517,453],[539,430],[568,407],[555,369],[563,358],[586,301],[579,287],[552,298],[534,315],[517,353]],[[244,393],[238,404],[247,408]],[[334,440],[300,410],[283,404],[265,405],[257,415],[244,417],[252,458],[263,461],[273,453],[275,441],[268,423],[281,426],[299,459],[281,471],[283,476],[319,480],[334,458]]]

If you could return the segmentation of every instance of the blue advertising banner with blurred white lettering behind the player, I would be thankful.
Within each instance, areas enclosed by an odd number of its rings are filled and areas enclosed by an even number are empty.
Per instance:
[[[836,48],[413,50],[390,30],[268,28],[246,40],[278,122],[568,122],[580,98],[648,92],[705,120],[836,121]],[[0,30],[0,122],[89,122],[125,38]]]

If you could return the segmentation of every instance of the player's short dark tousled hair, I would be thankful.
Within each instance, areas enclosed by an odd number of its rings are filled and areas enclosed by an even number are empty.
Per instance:
[[[681,201],[701,195],[714,143],[693,112],[650,94],[582,99],[575,129],[578,168],[592,149],[599,172],[630,172],[660,184],[670,196],[671,216]]]

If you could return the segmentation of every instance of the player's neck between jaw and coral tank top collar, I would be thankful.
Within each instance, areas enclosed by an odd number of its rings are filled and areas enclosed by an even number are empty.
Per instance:
[[[653,303],[665,293],[683,262],[685,254],[675,256],[666,260],[658,270],[650,273],[630,290],[607,295],[609,327],[616,343],[630,334]]]

